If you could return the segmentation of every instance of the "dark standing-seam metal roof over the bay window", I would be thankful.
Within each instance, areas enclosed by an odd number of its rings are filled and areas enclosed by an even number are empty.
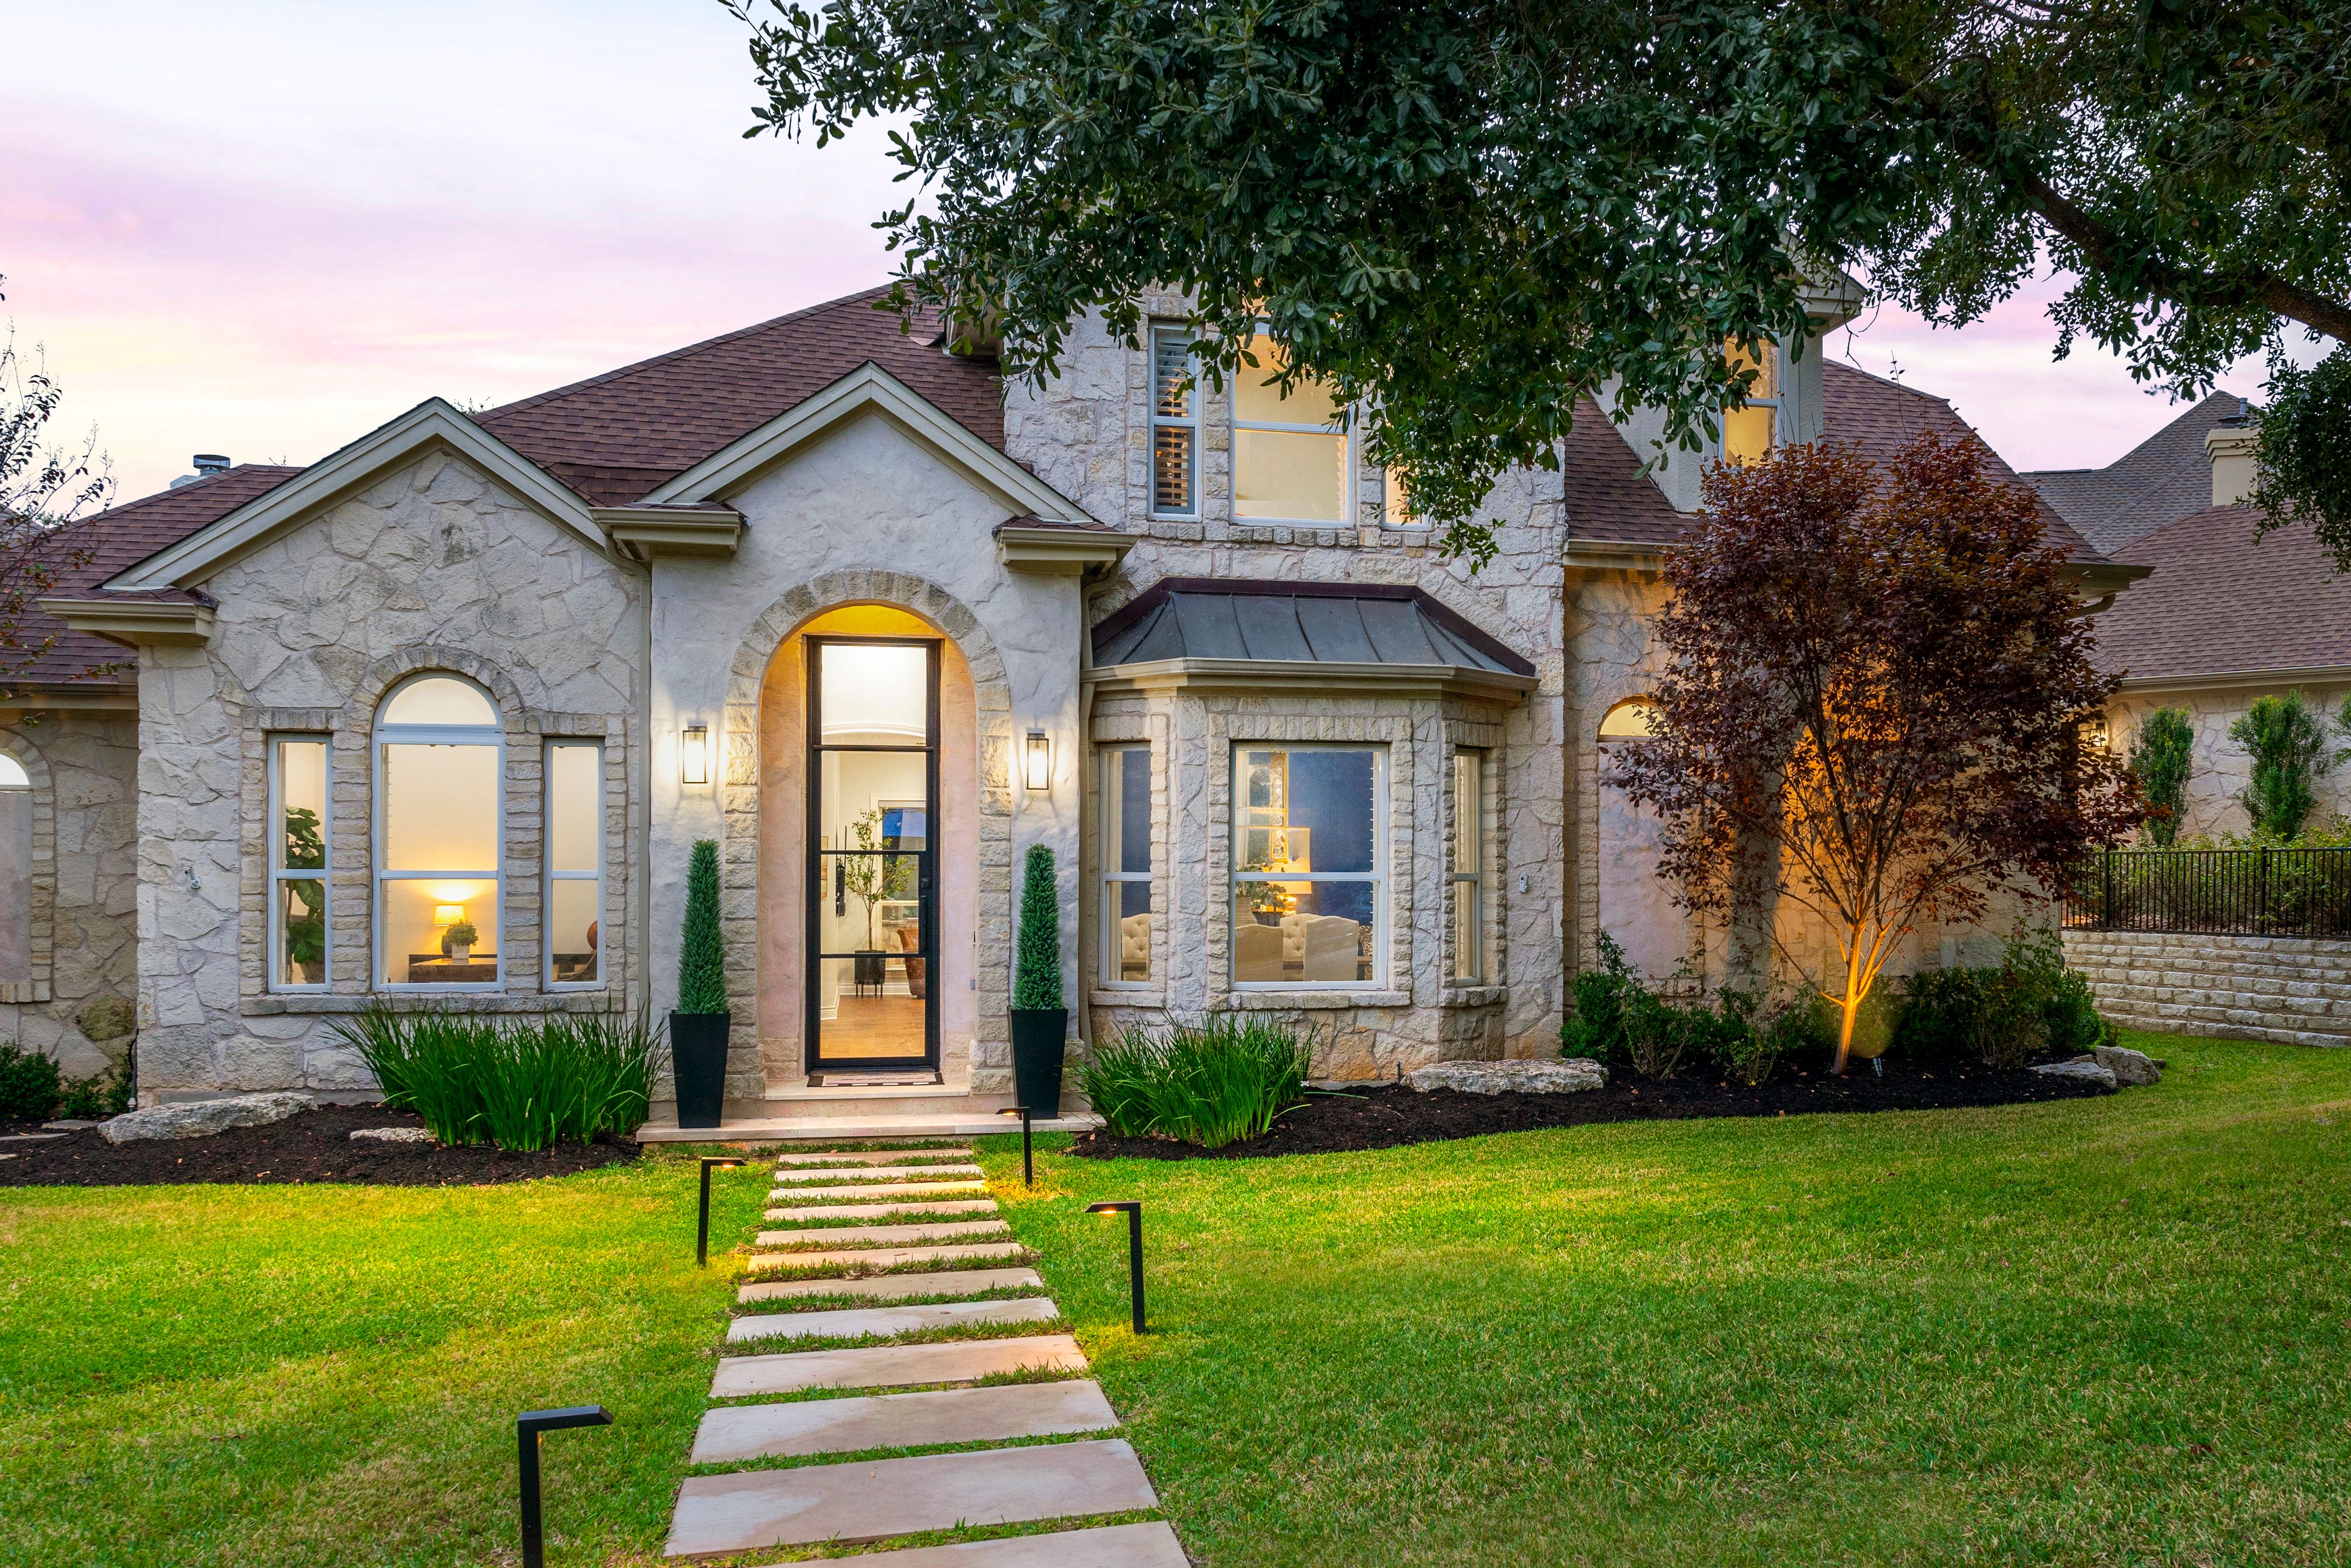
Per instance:
[[[1455,665],[1535,675],[1535,665],[1420,588],[1164,578],[1093,628],[1093,663],[1164,658],[1324,665]]]

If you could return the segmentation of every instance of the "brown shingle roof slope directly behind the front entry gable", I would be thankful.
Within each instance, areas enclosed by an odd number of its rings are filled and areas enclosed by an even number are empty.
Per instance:
[[[900,331],[896,315],[875,308],[882,294],[865,289],[623,364],[477,423],[590,505],[628,505],[872,360],[1002,451],[994,364],[936,348],[929,315]]]

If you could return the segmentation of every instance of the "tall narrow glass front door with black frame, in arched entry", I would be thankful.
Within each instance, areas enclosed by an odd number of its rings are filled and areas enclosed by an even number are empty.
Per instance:
[[[809,1067],[936,1067],[938,644],[806,646]]]

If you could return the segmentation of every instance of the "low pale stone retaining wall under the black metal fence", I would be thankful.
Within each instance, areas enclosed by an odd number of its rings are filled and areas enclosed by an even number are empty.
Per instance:
[[[2351,943],[2067,931],[2099,1011],[2128,1030],[2351,1046]]]

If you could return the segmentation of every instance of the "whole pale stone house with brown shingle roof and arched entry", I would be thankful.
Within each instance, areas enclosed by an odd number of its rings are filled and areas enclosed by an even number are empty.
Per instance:
[[[143,1103],[364,1095],[364,1006],[663,1011],[698,839],[731,1114],[1009,1103],[1032,844],[1077,1041],[1251,1011],[1387,1077],[1554,1053],[1599,931],[1719,971],[1599,785],[1688,454],[1587,402],[1472,571],[1319,390],[1194,381],[1180,299],[1032,390],[877,294],[94,520],[0,715],[16,1034],[120,1056],[75,1023],[110,994]],[[1768,371],[1733,444],[1965,430],[1817,346]]]

